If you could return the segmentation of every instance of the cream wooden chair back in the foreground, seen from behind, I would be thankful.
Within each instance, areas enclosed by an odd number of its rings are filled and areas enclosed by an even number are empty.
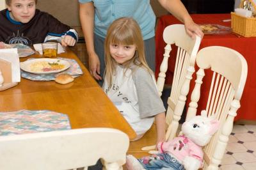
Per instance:
[[[64,170],[96,164],[122,169],[129,137],[112,128],[81,128],[0,137],[0,169]]]

